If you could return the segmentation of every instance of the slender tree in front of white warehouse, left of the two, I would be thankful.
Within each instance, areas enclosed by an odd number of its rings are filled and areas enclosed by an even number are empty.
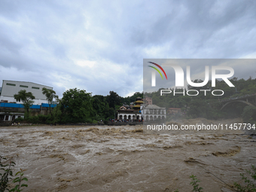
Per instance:
[[[35,96],[33,96],[31,92],[26,92],[26,90],[20,90],[17,94],[14,94],[14,99],[16,99],[17,102],[23,102],[27,117],[29,117],[29,108],[34,103],[33,99],[35,99]]]

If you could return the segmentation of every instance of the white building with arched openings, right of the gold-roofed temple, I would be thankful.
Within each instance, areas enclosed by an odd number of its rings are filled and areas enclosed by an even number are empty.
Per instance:
[[[166,108],[160,108],[157,105],[142,105],[141,111],[145,121],[166,119]]]

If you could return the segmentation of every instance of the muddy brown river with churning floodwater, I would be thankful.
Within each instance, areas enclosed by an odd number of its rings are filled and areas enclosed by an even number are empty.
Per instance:
[[[242,123],[239,118],[186,121]],[[193,190],[193,174],[203,191],[228,192],[235,190],[227,184],[240,182],[239,173],[256,164],[255,139],[244,133],[156,135],[143,134],[142,126],[8,126],[0,127],[0,155],[16,163],[14,172],[27,169],[29,186],[23,191],[187,192]]]

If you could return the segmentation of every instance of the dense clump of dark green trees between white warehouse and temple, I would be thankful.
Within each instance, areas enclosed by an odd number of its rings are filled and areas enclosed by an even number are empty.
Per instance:
[[[120,96],[110,91],[108,96],[87,93],[86,90],[69,89],[63,93],[62,99],[51,117],[54,123],[97,123],[114,118],[120,105]]]

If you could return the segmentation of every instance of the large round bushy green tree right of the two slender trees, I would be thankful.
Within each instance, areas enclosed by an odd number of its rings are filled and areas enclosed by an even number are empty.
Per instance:
[[[63,93],[60,107],[66,122],[86,122],[94,114],[91,93],[77,88]]]

